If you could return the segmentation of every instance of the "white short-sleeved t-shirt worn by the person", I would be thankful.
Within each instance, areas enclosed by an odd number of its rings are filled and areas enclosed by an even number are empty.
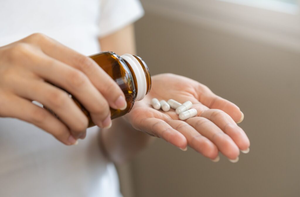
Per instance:
[[[41,32],[91,55],[100,51],[98,36],[142,15],[138,0],[1,0],[0,46]],[[0,196],[121,196],[98,132],[88,129],[77,146],[65,146],[29,123],[0,118]]]

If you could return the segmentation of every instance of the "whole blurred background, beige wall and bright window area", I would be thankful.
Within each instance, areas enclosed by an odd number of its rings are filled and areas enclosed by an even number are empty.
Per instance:
[[[151,74],[190,77],[237,104],[251,146],[213,163],[157,139],[118,167],[124,196],[300,196],[299,1],[141,2],[137,50]]]

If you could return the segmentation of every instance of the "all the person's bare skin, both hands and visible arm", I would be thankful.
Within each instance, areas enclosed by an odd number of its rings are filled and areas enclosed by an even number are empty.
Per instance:
[[[135,54],[133,25],[101,38],[100,43],[104,51]],[[66,145],[76,144],[78,138],[85,138],[88,120],[57,86],[74,95],[101,128],[111,126],[109,107],[126,105],[119,86],[92,59],[46,35],[33,34],[0,47],[0,117],[27,121]],[[153,109],[152,98],[173,98],[181,103],[189,100],[198,117],[178,120],[174,110]],[[60,120],[32,101],[52,109]],[[100,132],[100,140],[104,152],[114,162],[134,156],[149,144],[151,136],[182,150],[190,146],[210,159],[215,159],[219,151],[229,159],[236,159],[239,149],[250,146],[246,134],[236,124],[242,117],[236,105],[201,83],[160,74],[152,76],[151,91],[135,103],[130,113],[114,120],[111,129]]]

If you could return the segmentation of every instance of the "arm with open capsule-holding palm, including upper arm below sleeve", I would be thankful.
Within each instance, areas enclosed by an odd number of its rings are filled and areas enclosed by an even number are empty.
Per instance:
[[[102,50],[135,54],[133,32],[134,27],[130,25],[101,38]],[[126,44],[120,45],[121,41]],[[182,121],[173,109],[168,112],[155,110],[150,105],[152,98],[166,101],[173,98],[181,103],[191,101],[197,117]],[[116,163],[132,158],[150,144],[152,136],[182,150],[189,146],[210,159],[217,159],[221,152],[234,160],[239,150],[247,150],[250,146],[247,135],[237,126],[242,119],[242,112],[235,104],[215,95],[203,84],[179,75],[160,74],[152,76],[149,94],[136,102],[130,113],[113,120],[110,129],[102,129],[100,139],[107,157]]]

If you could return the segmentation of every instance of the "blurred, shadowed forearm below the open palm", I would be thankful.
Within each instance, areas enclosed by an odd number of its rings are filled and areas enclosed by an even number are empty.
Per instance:
[[[100,131],[100,143],[106,156],[113,162],[122,163],[144,149],[154,138],[137,131],[123,118],[113,120],[110,129]]]

